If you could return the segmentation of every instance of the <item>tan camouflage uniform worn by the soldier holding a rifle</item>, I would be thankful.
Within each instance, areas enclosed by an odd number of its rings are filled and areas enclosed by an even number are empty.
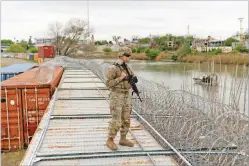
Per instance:
[[[123,54],[124,52],[119,52],[120,56]],[[131,52],[129,52],[129,54],[131,54]],[[116,63],[121,65],[122,61],[118,60]],[[115,138],[119,130],[121,136],[127,134],[130,127],[130,114],[132,111],[131,85],[128,81],[122,81],[119,78],[121,73],[126,73],[126,71],[118,65],[112,65],[108,68],[106,81],[106,85],[110,89],[110,112],[112,115],[112,119],[109,122],[108,135],[112,138]],[[131,74],[131,69],[128,68],[128,70]]]

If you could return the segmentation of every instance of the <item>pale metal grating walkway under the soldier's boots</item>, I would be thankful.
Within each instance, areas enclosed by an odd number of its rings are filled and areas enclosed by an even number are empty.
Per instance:
[[[120,146],[118,134],[118,151],[109,150],[105,146],[111,118],[108,94],[90,70],[66,69],[20,165],[175,166],[176,160],[190,165],[173,147],[163,149],[135,111],[127,136],[134,147]]]

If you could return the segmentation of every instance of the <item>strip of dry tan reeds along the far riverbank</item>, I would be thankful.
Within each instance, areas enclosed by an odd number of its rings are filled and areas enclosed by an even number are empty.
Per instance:
[[[174,52],[161,52],[154,61],[173,61],[172,56]],[[76,59],[116,59],[118,57],[117,52],[92,52],[86,55],[74,55],[72,56]],[[132,53],[132,60],[150,60],[145,53]],[[198,55],[187,55],[184,56],[181,62],[185,63],[203,63],[203,62],[214,62],[216,64],[238,64],[238,65],[248,65],[249,59],[248,54],[240,53],[222,53],[218,55],[209,55],[205,53],[200,53]]]

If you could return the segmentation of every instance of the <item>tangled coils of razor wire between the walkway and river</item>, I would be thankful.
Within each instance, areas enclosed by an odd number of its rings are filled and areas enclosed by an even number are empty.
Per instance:
[[[106,81],[109,64],[104,61],[62,59],[66,66],[85,67]],[[133,99],[133,109],[191,164],[249,165],[249,117],[239,110],[237,102],[226,105],[222,98],[208,100],[184,89],[171,90],[141,77],[138,80],[143,102]],[[247,87],[248,79],[245,80],[237,85]],[[243,92],[240,88],[234,89],[237,90],[231,93],[231,99],[238,101],[237,97]],[[149,127],[147,130],[164,148],[169,148]]]

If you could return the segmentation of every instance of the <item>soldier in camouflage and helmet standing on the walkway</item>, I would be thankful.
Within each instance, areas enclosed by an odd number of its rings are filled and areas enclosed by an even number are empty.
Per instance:
[[[106,85],[110,90],[110,112],[112,119],[109,122],[106,146],[111,150],[118,149],[113,140],[119,130],[119,144],[129,147],[134,145],[133,142],[126,139],[126,135],[130,127],[132,95],[131,85],[127,81],[128,75],[121,67],[124,62],[128,63],[130,61],[131,53],[130,48],[121,47],[118,53],[118,61],[114,63],[114,65],[110,66],[107,71]],[[130,68],[128,68],[128,70],[131,75],[134,75]]]

